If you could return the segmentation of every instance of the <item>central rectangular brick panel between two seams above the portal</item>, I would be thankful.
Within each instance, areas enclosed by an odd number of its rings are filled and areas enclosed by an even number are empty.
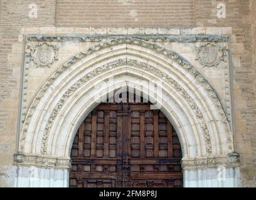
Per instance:
[[[193,0],[59,0],[57,26],[158,27],[195,25]]]

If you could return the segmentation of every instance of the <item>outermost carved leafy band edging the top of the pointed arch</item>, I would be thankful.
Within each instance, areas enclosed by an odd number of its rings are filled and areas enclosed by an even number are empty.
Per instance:
[[[36,37],[36,38],[40,39],[42,37]],[[58,38],[58,36],[56,36],[56,38]],[[55,71],[55,73],[53,73],[53,75],[45,82],[45,84],[43,84],[40,91],[36,94],[36,97],[33,99],[33,102],[31,103],[31,105],[28,109],[28,113],[26,114],[26,118],[24,120],[23,128],[21,131],[19,151],[24,150],[24,141],[26,138],[26,133],[28,131],[28,127],[29,127],[29,121],[30,121],[31,117],[33,116],[36,106],[40,102],[40,99],[43,97],[46,90],[48,88],[50,88],[51,83],[53,83],[53,81],[55,81],[55,79],[58,78],[58,76],[60,76],[60,74],[63,73],[63,71],[68,69],[74,63],[77,63],[77,61],[80,61],[81,59],[85,58],[86,56],[88,56],[92,53],[99,51],[100,49],[115,46],[118,44],[134,44],[137,46],[142,46],[142,47],[147,47],[149,49],[152,49],[158,53],[164,54],[168,58],[173,59],[173,61],[176,61],[177,63],[179,63],[181,68],[186,69],[186,71],[188,71],[191,75],[193,75],[199,81],[199,83],[206,89],[206,91],[208,91],[208,94],[215,102],[218,113],[220,113],[221,117],[223,118],[222,122],[223,122],[223,124],[225,124],[226,134],[227,134],[227,138],[228,138],[228,148],[229,149],[233,148],[233,136],[232,136],[232,133],[229,128],[229,124],[227,121],[227,115],[223,109],[220,98],[218,98],[218,95],[216,94],[215,90],[210,86],[208,81],[206,81],[206,79],[203,78],[203,76],[201,76],[201,74],[198,73],[198,71],[196,71],[196,69],[188,61],[186,61],[186,59],[181,58],[181,56],[179,56],[176,53],[173,53],[173,51],[170,51],[169,49],[166,49],[166,47],[159,46],[158,44],[155,44],[152,42],[147,42],[142,39],[126,36],[126,37],[112,38],[108,41],[104,41],[102,43],[95,44],[95,46],[90,47],[88,50],[81,51],[80,53],[78,53],[75,56],[73,56],[72,58],[70,58],[66,63],[62,64],[60,66],[60,68],[58,68]],[[193,104],[192,104],[192,106],[193,106]],[[198,113],[198,116],[201,116],[201,114]],[[201,126],[203,129],[205,128],[205,124],[202,124]]]

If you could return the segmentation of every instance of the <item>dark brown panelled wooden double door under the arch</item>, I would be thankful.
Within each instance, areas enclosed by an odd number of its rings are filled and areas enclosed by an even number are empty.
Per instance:
[[[73,141],[70,187],[182,187],[181,146],[150,104],[103,103]]]

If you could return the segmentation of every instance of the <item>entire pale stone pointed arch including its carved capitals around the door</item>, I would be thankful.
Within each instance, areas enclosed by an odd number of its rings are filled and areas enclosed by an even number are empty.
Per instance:
[[[54,168],[61,171],[60,184],[67,186],[73,137],[100,96],[111,92],[109,86],[95,86],[111,77],[115,78],[112,89],[141,81],[161,83],[162,96],[147,89],[141,92],[161,102],[161,111],[177,131],[184,186],[211,179],[207,174],[200,176],[198,170],[216,173],[219,165],[230,170],[230,184],[237,183],[238,161],[228,156],[233,153],[232,130],[215,90],[186,59],[135,38],[96,44],[70,58],[43,84],[24,120],[16,155],[19,166]],[[17,183],[20,179],[22,175]]]

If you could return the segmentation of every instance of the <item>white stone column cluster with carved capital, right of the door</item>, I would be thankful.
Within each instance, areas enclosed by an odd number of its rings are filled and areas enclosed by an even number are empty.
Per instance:
[[[236,153],[209,158],[183,158],[184,187],[239,187],[240,160]]]

